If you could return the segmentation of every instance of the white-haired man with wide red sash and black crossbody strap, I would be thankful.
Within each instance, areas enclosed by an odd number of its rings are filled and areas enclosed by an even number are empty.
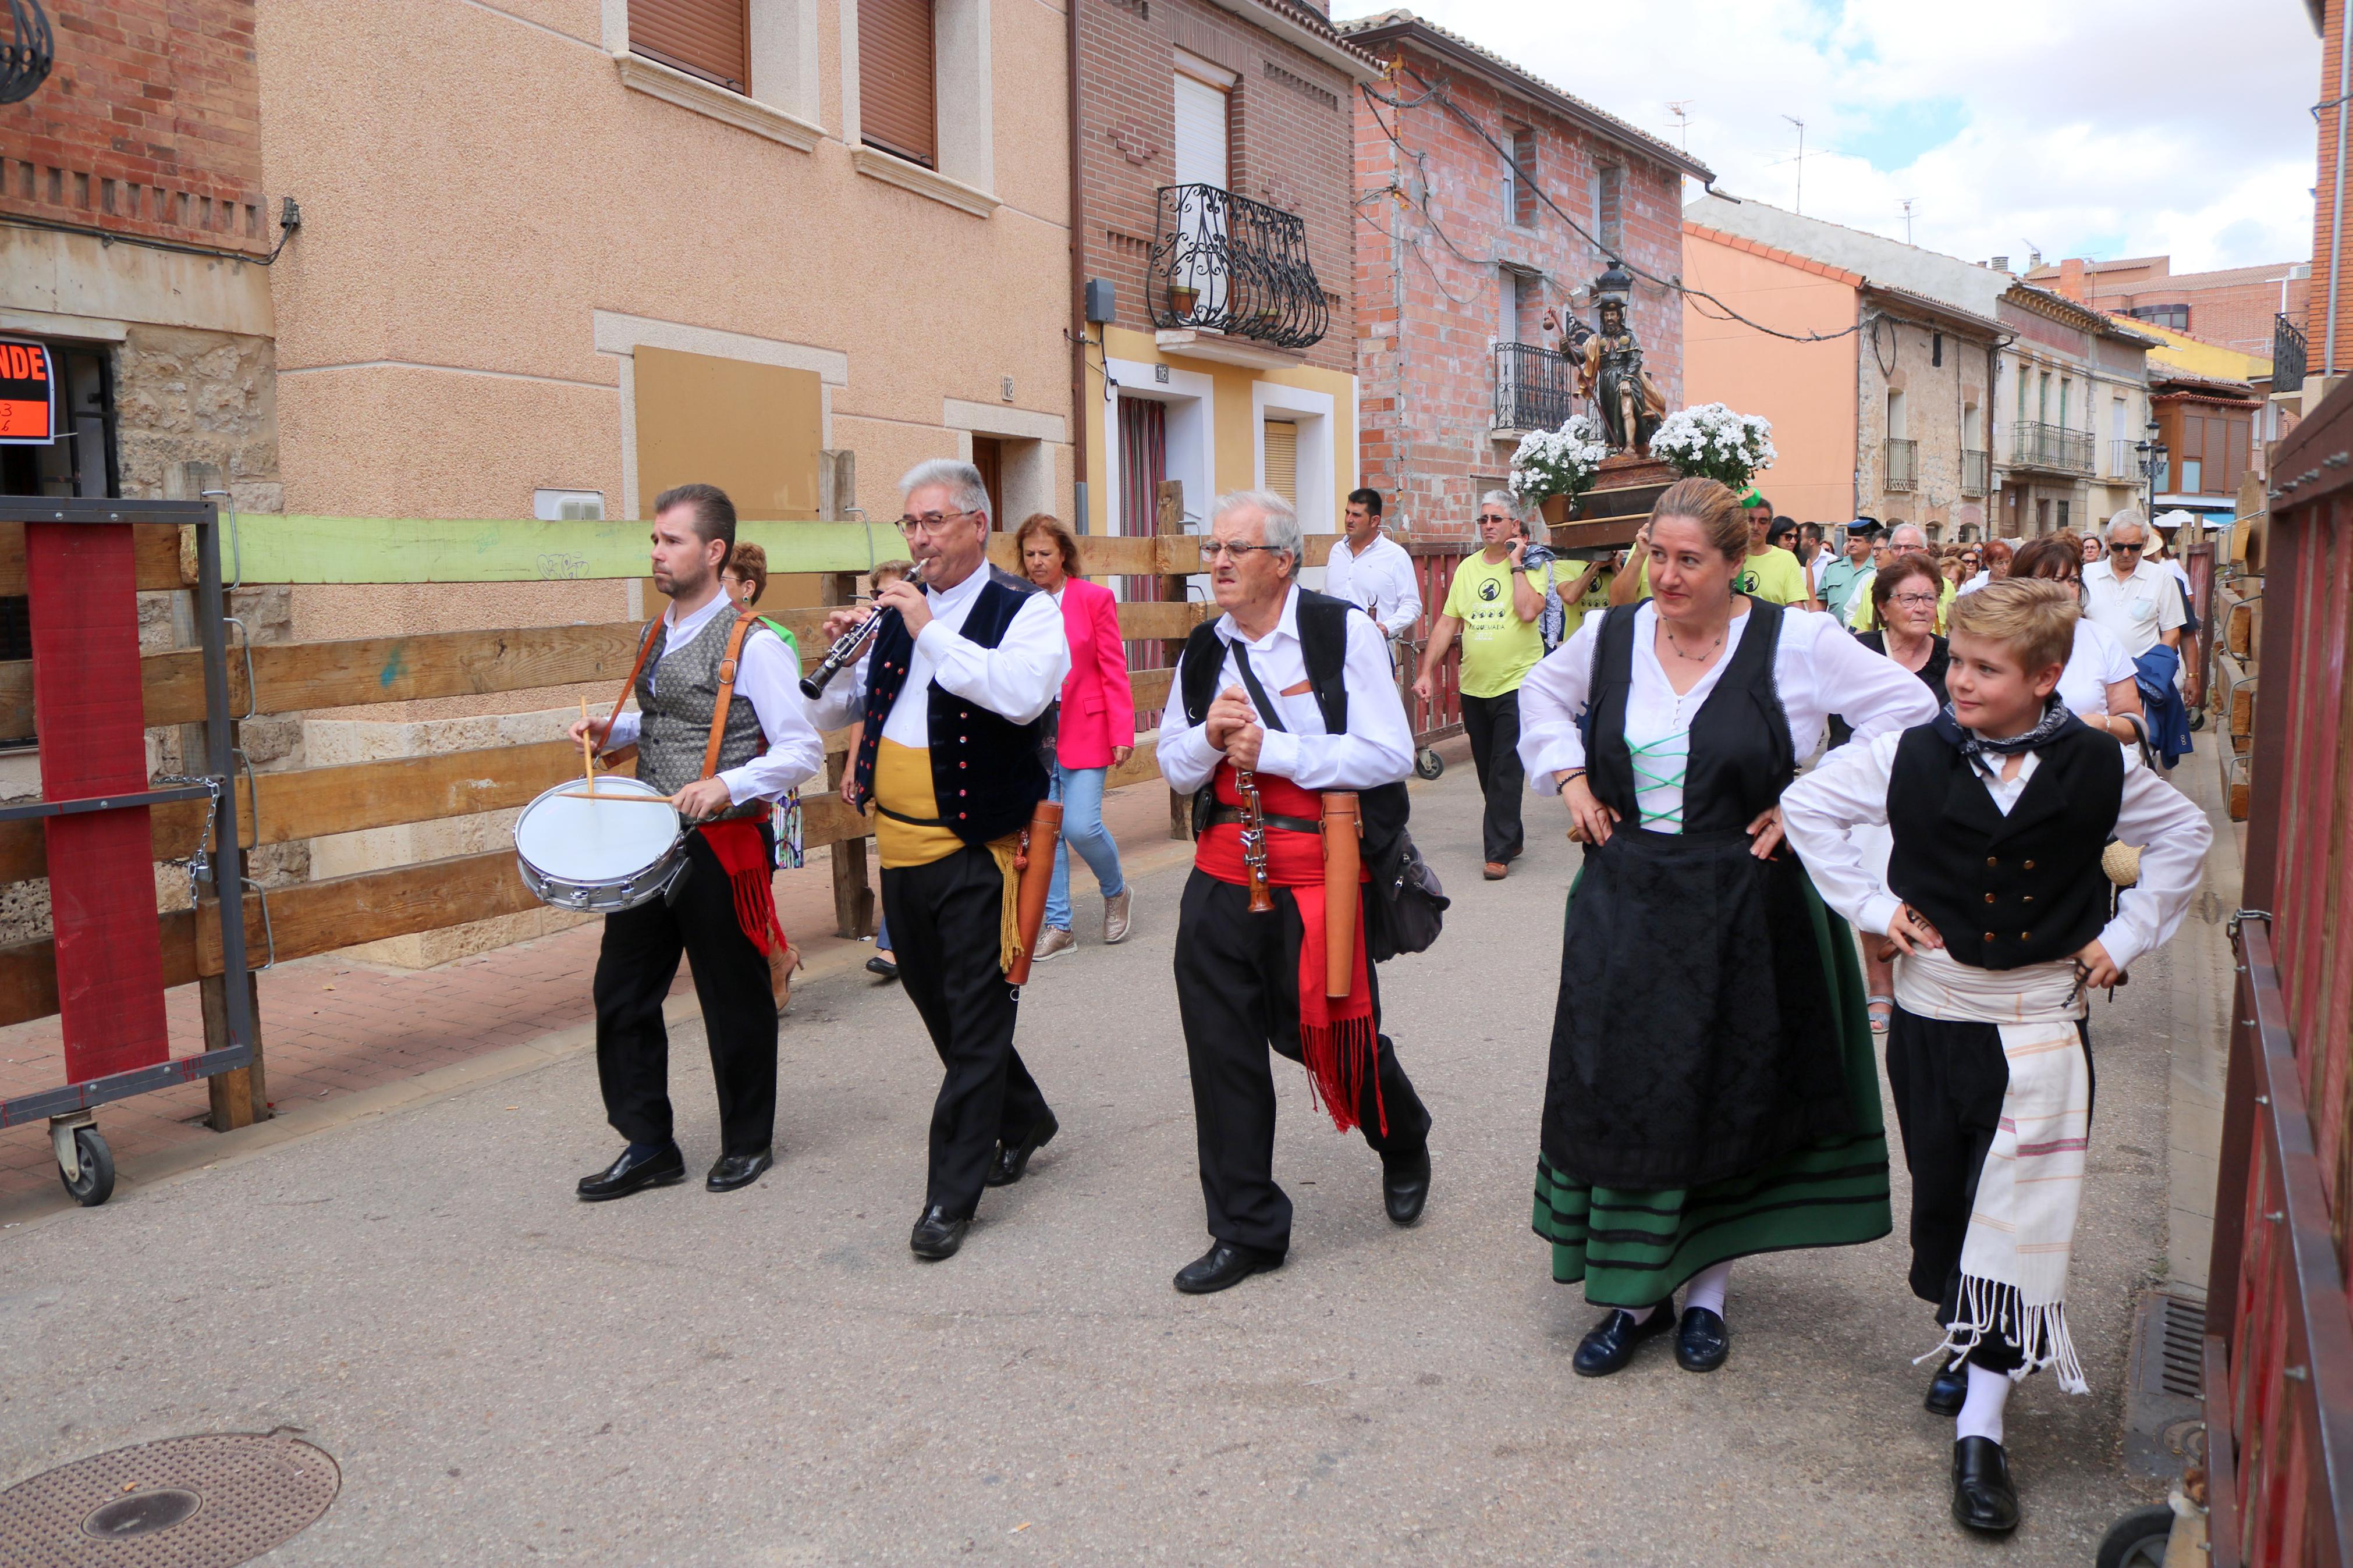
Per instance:
[[[1176,1009],[1193,1072],[1193,1131],[1209,1251],[1176,1272],[1205,1295],[1282,1267],[1292,1201],[1275,1185],[1268,1046],[1304,1063],[1339,1131],[1381,1157],[1391,1222],[1431,1192],[1431,1114],[1381,1034],[1369,931],[1377,898],[1327,872],[1329,832],[1355,839],[1379,882],[1398,872],[1414,736],[1365,611],[1299,588],[1299,515],[1271,491],[1209,512],[1202,567],[1219,609],[1193,628],[1169,675],[1160,773],[1193,795],[1193,877],[1176,912]],[[1355,820],[1327,809],[1355,797]],[[1346,903],[1341,903],[1346,900]],[[1329,961],[1346,945],[1348,994]]]

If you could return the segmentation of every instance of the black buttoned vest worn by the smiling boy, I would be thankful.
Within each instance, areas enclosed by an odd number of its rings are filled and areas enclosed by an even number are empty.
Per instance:
[[[1960,755],[1953,715],[1897,743],[1887,889],[1974,969],[2064,959],[2108,924],[2099,853],[2125,799],[2125,750],[2071,717],[2035,755],[2035,776],[2002,816]]]

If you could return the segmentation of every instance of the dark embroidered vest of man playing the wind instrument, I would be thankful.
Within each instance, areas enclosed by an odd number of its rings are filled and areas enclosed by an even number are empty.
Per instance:
[[[988,567],[988,583],[972,602],[960,635],[984,649],[998,646],[1005,639],[1005,628],[1014,623],[1033,592],[1038,592],[1035,583]],[[915,639],[908,635],[906,621],[892,616],[892,623],[875,632],[875,646],[866,663],[866,733],[859,736],[854,773],[859,799],[873,799],[882,722],[899,703],[913,658]],[[965,844],[986,844],[1026,827],[1031,811],[1047,795],[1038,745],[1042,717],[1014,724],[1000,712],[955,696],[936,679],[925,696],[932,719],[932,797],[939,804],[939,818],[932,820],[946,825]],[[880,806],[875,809],[880,811]]]

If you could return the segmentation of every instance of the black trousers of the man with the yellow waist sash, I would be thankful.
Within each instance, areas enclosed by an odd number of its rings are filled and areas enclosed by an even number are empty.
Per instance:
[[[986,849],[882,872],[892,957],[946,1077],[932,1105],[925,1206],[969,1215],[998,1143],[1019,1143],[1047,1114],[1014,1051],[1014,987],[998,969],[1005,875]]]

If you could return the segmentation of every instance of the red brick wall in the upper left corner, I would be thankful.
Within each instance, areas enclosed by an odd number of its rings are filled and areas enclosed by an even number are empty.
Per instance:
[[[56,68],[0,108],[0,212],[266,252],[254,0],[49,0]]]

